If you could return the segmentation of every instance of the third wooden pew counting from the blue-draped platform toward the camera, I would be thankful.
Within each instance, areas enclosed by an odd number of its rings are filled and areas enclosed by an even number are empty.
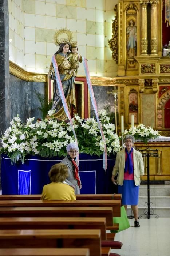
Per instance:
[[[111,207],[0,207],[0,217],[105,217],[113,225]]]

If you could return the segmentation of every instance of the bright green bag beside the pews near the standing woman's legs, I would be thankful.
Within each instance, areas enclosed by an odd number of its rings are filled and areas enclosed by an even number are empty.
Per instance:
[[[129,219],[124,206],[121,206],[121,217],[113,217],[113,223],[119,223],[118,230],[110,230],[111,233],[118,233],[130,227]]]

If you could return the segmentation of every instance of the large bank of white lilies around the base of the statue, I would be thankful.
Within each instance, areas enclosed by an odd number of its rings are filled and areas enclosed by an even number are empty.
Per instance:
[[[0,153],[7,154],[11,163],[21,160],[23,163],[27,155],[41,157],[65,156],[67,144],[74,142],[75,138],[70,123],[53,118],[54,110],[49,110],[51,119],[33,123],[33,118],[28,118],[25,124],[17,116],[10,122],[11,126],[5,131],[1,139]],[[94,118],[83,120],[79,116],[72,119],[73,127],[78,139],[79,153],[100,156],[107,146],[107,153],[120,150],[119,137],[114,133],[115,125],[109,123],[110,118],[106,111],[99,111],[105,141],[102,141],[98,123]]]

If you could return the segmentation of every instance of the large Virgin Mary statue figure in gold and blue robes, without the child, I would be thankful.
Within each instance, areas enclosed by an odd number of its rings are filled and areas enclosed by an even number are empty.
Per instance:
[[[64,91],[64,95],[66,98],[67,106],[69,112],[71,112],[71,106],[76,109],[76,97],[75,97],[75,78],[72,76],[72,73],[69,74],[70,71],[70,62],[66,58],[68,56],[70,50],[70,43],[63,42],[60,44],[59,50],[55,53],[56,63],[58,65],[58,71],[60,75],[60,79],[62,82],[62,87]],[[55,109],[54,117],[59,120],[66,120],[67,116],[65,114],[63,103],[60,97],[60,93],[58,90],[58,85],[56,83],[56,77],[54,72],[54,67],[51,62],[50,69],[48,72],[48,76],[50,79],[54,79],[54,95],[53,95],[53,105],[52,109]]]

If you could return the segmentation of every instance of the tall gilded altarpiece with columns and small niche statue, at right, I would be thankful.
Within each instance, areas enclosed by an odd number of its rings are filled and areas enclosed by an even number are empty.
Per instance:
[[[119,0],[109,46],[118,64],[113,83],[122,91],[118,95],[119,119],[124,115],[125,129],[130,128],[133,113],[135,125],[150,125],[162,136],[170,136],[165,114],[170,101],[170,57],[162,56],[162,7],[162,0]],[[146,148],[140,142],[135,146]],[[147,146],[159,149],[159,158],[150,159],[151,180],[170,180],[170,142]],[[142,179],[147,179],[146,164]]]

